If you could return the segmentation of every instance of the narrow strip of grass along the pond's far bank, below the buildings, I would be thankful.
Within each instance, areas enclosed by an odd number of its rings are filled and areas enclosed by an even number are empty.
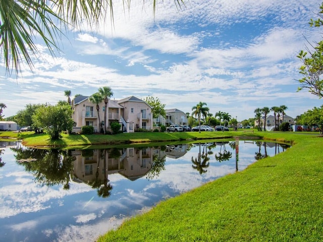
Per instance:
[[[176,132],[176,133],[123,133],[118,135],[65,135],[62,139],[51,141],[47,134],[34,134],[34,132],[0,132],[0,139],[11,138],[21,139],[23,145],[28,147],[59,147],[69,148],[83,147],[88,148],[91,145],[118,145],[130,143],[153,143],[166,141],[184,141],[184,140],[205,140],[205,139],[224,139],[239,137],[262,137],[268,132],[257,132],[254,134],[243,133],[243,131],[229,132]]]

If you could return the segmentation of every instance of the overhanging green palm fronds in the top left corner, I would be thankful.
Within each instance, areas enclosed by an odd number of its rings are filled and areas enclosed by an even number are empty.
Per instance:
[[[86,2],[86,4],[84,4]],[[31,54],[39,53],[35,43],[36,38],[41,38],[51,55],[54,50],[60,50],[59,41],[65,35],[64,30],[81,29],[84,22],[91,28],[96,26],[101,19],[114,21],[113,6],[116,1],[74,1],[74,0],[48,0],[25,1],[7,0],[0,4],[0,48],[6,70],[11,74],[21,71],[20,65],[25,61],[30,69],[33,68]],[[121,1],[123,7],[130,8],[130,2]],[[184,0],[174,1],[176,8],[185,6]],[[145,3],[145,1],[143,1]],[[153,1],[153,15],[157,1]],[[37,56],[36,56],[37,57]]]

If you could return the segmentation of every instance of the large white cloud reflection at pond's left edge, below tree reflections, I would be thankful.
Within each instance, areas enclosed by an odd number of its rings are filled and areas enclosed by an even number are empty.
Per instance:
[[[21,176],[25,174],[18,173]],[[86,184],[75,184],[73,182],[70,183],[69,190],[64,190],[62,187],[59,190],[55,190],[46,186],[37,186],[31,176],[26,177],[28,178],[17,178],[15,185],[0,188],[0,218],[44,210],[50,207],[50,205],[45,205],[45,203],[51,199],[63,199],[65,196],[92,190]],[[63,201],[60,200],[59,203],[62,206]]]

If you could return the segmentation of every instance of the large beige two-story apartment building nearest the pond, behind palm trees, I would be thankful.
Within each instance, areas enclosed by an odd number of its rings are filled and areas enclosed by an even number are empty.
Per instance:
[[[89,96],[77,96],[72,100],[72,118],[76,127],[93,126],[94,132],[99,133],[104,127],[104,102],[96,104],[89,100]],[[99,120],[100,119],[100,120]],[[100,122],[99,122],[100,121]],[[145,101],[131,96],[121,100],[110,99],[107,104],[106,128],[111,123],[118,122],[124,132],[134,132],[135,129],[152,129],[151,106]]]

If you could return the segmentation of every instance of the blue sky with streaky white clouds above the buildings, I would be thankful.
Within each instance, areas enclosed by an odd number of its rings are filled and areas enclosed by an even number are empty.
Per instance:
[[[50,55],[36,39],[33,57],[17,78],[0,63],[0,103],[5,117],[29,103],[50,103],[111,87],[112,99],[158,98],[166,109],[192,112],[205,102],[209,112],[228,112],[239,122],[262,107],[286,105],[296,117],[322,100],[299,87],[296,56],[322,39],[310,27],[321,2],[314,0],[189,0],[177,9],[173,0],[131,1],[124,10],[114,3],[110,17],[97,28],[69,30],[60,50]],[[3,58],[3,55],[1,55]],[[271,112],[270,114],[273,114]]]

